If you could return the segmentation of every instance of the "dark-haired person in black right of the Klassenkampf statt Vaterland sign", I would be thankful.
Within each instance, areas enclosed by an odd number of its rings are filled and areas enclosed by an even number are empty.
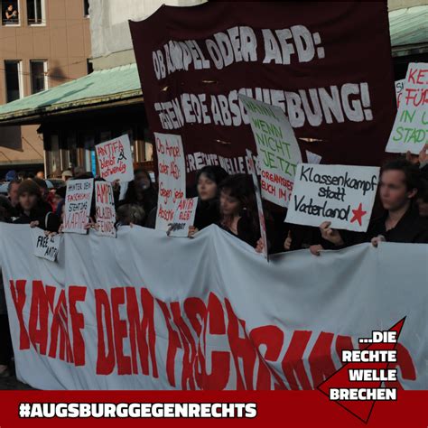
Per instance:
[[[419,168],[405,159],[386,163],[381,170],[379,197],[384,214],[372,219],[366,233],[343,233],[330,228],[330,221],[321,223],[321,237],[333,247],[349,247],[362,242],[400,242],[428,244],[428,219],[419,215],[415,200],[421,189]],[[320,256],[324,246],[312,246],[311,253]]]

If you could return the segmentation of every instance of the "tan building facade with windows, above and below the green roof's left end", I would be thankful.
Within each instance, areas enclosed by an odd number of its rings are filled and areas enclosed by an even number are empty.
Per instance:
[[[1,0],[0,8],[0,107],[88,74],[88,1]],[[0,127],[0,177],[43,168],[37,129]]]

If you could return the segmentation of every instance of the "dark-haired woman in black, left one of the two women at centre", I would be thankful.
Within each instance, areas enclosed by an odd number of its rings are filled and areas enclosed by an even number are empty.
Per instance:
[[[204,166],[196,173],[198,206],[196,207],[194,225],[189,228],[189,237],[220,220],[219,184],[228,177],[221,166]]]

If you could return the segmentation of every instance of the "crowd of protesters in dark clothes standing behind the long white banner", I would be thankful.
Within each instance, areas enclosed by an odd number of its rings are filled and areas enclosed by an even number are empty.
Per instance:
[[[278,253],[309,248],[320,256],[323,249],[340,249],[363,242],[377,247],[380,241],[428,243],[428,147],[419,156],[407,154],[386,163],[380,172],[377,202],[368,231],[350,232],[330,228],[324,221],[320,228],[284,223],[284,209],[265,202],[268,251]],[[62,172],[62,180],[94,178],[81,168]],[[7,196],[0,196],[0,221],[29,224],[47,233],[61,232],[66,187],[49,190],[42,172],[33,177],[24,173],[8,174]],[[95,180],[102,180],[95,177]],[[134,181],[121,189],[113,183],[116,203],[116,227],[154,228],[157,187],[143,168],[135,169]],[[219,166],[206,166],[196,175],[196,184],[187,196],[198,196],[194,225],[189,237],[210,225],[217,225],[263,251],[256,195],[251,177],[228,175]],[[88,228],[96,225],[95,202]],[[93,217],[92,217],[93,216]],[[3,286],[2,286],[3,287]],[[0,377],[9,376],[12,344],[5,312],[5,293],[0,290]]]

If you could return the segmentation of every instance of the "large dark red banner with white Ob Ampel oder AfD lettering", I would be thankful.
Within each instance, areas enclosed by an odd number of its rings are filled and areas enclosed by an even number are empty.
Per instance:
[[[305,159],[377,165],[395,117],[386,2],[209,2],[130,23],[151,131],[187,172],[247,172],[239,93],[282,107]]]

